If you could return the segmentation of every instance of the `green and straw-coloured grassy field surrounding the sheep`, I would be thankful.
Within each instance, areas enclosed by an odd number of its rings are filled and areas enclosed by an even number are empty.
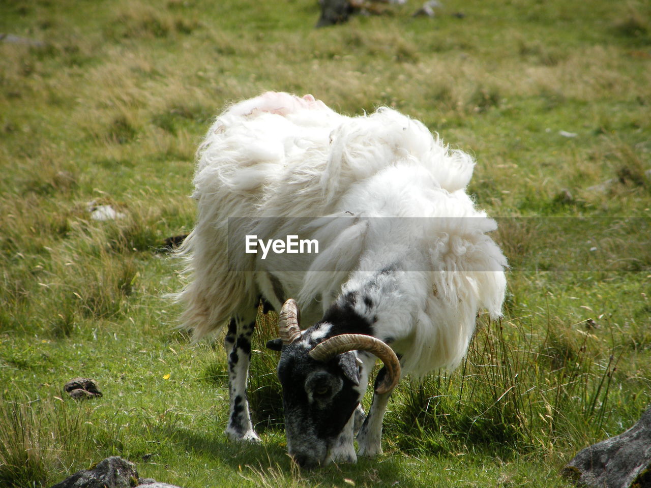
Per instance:
[[[651,8],[445,0],[313,29],[316,0],[0,4],[0,485],[121,455],[186,488],[566,487],[577,450],[651,403]],[[458,15],[462,14],[462,15]],[[226,103],[380,105],[471,152],[510,260],[505,318],[455,372],[398,387],[385,454],[298,472],[260,318],[261,446],[229,444],[220,340],[191,344],[161,251],[194,219],[193,155]],[[96,221],[92,206],[122,218]],[[77,403],[62,385],[98,381]],[[369,398],[366,399],[368,402]],[[368,406],[368,405],[367,405]]]

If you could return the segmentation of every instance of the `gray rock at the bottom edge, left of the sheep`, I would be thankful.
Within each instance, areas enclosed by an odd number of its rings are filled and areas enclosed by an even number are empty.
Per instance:
[[[90,470],[77,471],[51,488],[132,488],[137,484],[135,465],[113,456],[100,461]]]

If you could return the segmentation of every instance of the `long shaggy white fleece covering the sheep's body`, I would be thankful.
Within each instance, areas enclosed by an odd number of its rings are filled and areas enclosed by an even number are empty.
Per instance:
[[[280,306],[264,261],[256,272],[229,271],[229,217],[353,214],[314,221],[312,236],[323,244],[309,257],[312,271],[273,273],[297,299],[303,325],[320,319],[342,290],[397,263],[396,282],[371,297],[384,309],[376,335],[395,339],[404,373],[456,366],[478,309],[499,316],[506,287],[506,259],[486,235],[496,224],[464,191],[474,165],[421,122],[385,107],[348,117],[312,96],[275,92],[232,105],[197,152],[197,224],[180,249],[189,274],[178,293],[184,324],[204,336],[260,293]]]

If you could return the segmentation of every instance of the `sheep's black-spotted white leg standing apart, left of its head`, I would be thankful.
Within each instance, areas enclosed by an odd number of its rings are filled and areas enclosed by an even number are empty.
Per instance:
[[[254,309],[255,310],[255,309]],[[229,330],[224,340],[229,356],[229,398],[230,413],[226,435],[233,441],[260,442],[253,430],[246,385],[251,360],[251,334],[255,329],[255,312],[247,317],[230,319]]]

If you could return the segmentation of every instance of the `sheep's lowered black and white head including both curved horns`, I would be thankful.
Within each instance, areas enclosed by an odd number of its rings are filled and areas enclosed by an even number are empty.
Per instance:
[[[329,463],[329,453],[363,396],[360,364],[353,351],[368,351],[387,367],[378,393],[395,387],[400,363],[381,340],[360,334],[342,334],[312,347],[302,340],[296,302],[286,301],[279,314],[280,339],[268,347],[281,351],[278,379],[283,386],[285,433],[290,456],[301,467]]]

